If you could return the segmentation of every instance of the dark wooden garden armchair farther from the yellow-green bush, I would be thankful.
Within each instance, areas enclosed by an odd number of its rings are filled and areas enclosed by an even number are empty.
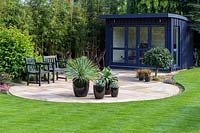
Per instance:
[[[43,62],[50,63],[49,71],[53,73],[53,83],[55,82],[55,74],[56,74],[56,80],[58,78],[66,79],[66,77],[59,77],[59,73],[65,73],[66,69],[66,61],[59,61],[56,55],[51,56],[43,56]],[[60,67],[60,64],[62,63],[63,67]]]

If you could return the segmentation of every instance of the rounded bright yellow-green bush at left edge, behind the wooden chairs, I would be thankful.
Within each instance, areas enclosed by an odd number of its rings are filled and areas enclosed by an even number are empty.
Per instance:
[[[0,28],[0,72],[20,77],[26,67],[24,58],[35,55],[29,35],[15,27]]]

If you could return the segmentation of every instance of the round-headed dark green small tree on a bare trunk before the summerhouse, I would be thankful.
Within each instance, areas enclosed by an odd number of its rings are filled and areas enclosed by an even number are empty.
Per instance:
[[[156,68],[157,77],[159,68],[169,68],[172,63],[172,55],[166,48],[152,48],[144,54],[144,63]]]

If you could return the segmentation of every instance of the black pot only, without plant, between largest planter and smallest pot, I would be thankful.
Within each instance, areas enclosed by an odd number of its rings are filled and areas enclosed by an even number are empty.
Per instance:
[[[105,87],[93,85],[94,96],[96,99],[103,99],[105,95]]]

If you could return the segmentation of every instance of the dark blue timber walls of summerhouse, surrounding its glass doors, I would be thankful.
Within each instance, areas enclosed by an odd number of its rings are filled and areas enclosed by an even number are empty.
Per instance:
[[[165,27],[165,45],[173,53],[173,27],[180,28],[179,37],[179,60],[180,68],[185,69],[193,66],[193,44],[192,35],[188,26],[188,21],[179,18],[110,18],[106,19],[106,64],[111,67],[134,68],[140,66],[130,66],[130,64],[112,63],[112,40],[114,26],[164,26]],[[144,66],[141,66],[144,67]]]

